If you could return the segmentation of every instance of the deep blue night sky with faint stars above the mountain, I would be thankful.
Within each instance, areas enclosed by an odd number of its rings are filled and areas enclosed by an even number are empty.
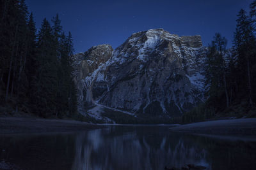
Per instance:
[[[65,32],[72,32],[74,48],[124,43],[132,33],[163,28],[179,36],[201,35],[204,45],[220,32],[232,45],[236,15],[248,11],[252,0],[27,0],[39,29],[46,17],[59,13]]]

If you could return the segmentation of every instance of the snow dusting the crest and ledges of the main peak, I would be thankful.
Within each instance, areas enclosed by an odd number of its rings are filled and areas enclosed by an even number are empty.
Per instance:
[[[147,38],[145,36],[147,36]],[[97,69],[95,69],[86,78],[84,78],[83,80],[84,87],[92,87],[93,82],[95,81],[97,82],[106,81],[110,84],[113,84],[117,78],[115,76],[108,78],[107,75],[106,77],[104,75],[104,70],[106,70],[108,66],[116,68],[116,67],[120,67],[121,64],[128,62],[129,60],[138,59],[143,61],[143,62],[139,62],[140,65],[138,65],[139,66],[138,69],[140,70],[143,69],[145,65],[145,61],[148,60],[148,57],[152,56],[150,55],[150,53],[156,52],[157,53],[156,55],[164,56],[163,53],[161,53],[159,51],[159,48],[157,47],[161,46],[163,41],[166,41],[166,40],[168,41],[168,43],[170,43],[169,45],[172,46],[173,52],[176,53],[180,59],[186,60],[186,62],[182,63],[182,67],[188,67],[186,69],[186,76],[188,77],[191,83],[192,89],[196,91],[204,90],[205,89],[204,76],[200,72],[195,73],[195,71],[200,70],[198,69],[201,67],[200,62],[202,62],[200,53],[204,52],[205,47],[200,46],[195,48],[195,47],[186,45],[185,43],[182,43],[181,37],[175,34],[170,34],[169,32],[164,31],[163,29],[150,29],[146,32],[141,32],[141,34],[136,34],[136,33],[132,34],[131,38],[127,39],[127,41],[125,41],[123,45],[119,46],[118,48],[112,51],[112,56],[105,63],[99,64],[98,65],[99,67]],[[164,49],[168,50],[168,48],[170,47],[169,45]],[[92,61],[88,60],[89,65],[91,65],[90,62]],[[152,70],[151,69],[148,70],[148,72],[150,71]],[[152,77],[150,77],[150,79],[151,78]],[[148,81],[151,82],[150,80]],[[89,92],[89,91],[92,91],[92,88],[86,88],[86,90]],[[143,111],[145,111],[145,108],[147,108],[148,104],[152,102],[149,97],[149,92],[150,92],[150,89],[148,89],[148,92],[147,92],[147,104],[143,108]],[[175,94],[175,92],[173,91],[171,94]],[[194,96],[193,93],[191,95],[193,97],[189,96],[189,98],[186,99],[186,102],[187,101],[189,101],[190,103],[194,102],[196,97]],[[175,104],[175,106],[177,106],[180,112],[182,112],[185,101],[176,99],[175,96],[172,96],[172,99],[174,102],[173,104]],[[163,109],[164,113],[167,112],[164,106],[164,101],[160,99],[159,102],[161,104],[161,108]],[[170,103],[169,97],[168,97],[168,102]],[[92,99],[92,103],[97,104],[97,101],[93,101]],[[109,108],[108,106],[103,106],[100,104],[97,104],[97,106],[98,108]],[[136,110],[139,110],[140,106],[141,106],[141,103],[138,103],[136,106],[132,108],[132,111],[135,112]],[[115,108],[109,108],[109,109],[120,111],[120,110],[116,110]],[[92,113],[95,113],[95,110],[93,110]],[[125,113],[124,111],[122,112]],[[127,114],[132,115],[133,113],[127,112]],[[93,117],[93,115],[91,116]],[[97,114],[94,114],[94,116],[97,117]]]

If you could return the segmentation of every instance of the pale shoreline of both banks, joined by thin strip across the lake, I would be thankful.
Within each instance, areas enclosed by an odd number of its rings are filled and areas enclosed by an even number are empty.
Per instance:
[[[44,118],[17,118],[0,117],[0,134],[31,134],[31,133],[55,133],[55,132],[78,132],[91,129],[104,128],[106,125],[129,126],[127,124],[89,124],[76,120],[58,120]],[[135,124],[136,125],[136,124]],[[239,135],[256,137],[256,118],[239,118],[228,120],[211,120],[186,125],[158,124],[170,127],[172,132],[186,132],[194,134],[211,135]],[[132,124],[132,126],[134,126]],[[136,126],[154,126],[136,125]],[[156,125],[157,126],[157,125]]]

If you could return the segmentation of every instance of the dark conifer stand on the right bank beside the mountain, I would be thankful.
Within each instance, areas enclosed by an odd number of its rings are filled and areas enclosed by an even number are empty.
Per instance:
[[[253,116],[256,112],[256,1],[239,11],[232,48],[216,33],[205,60],[207,101],[182,116],[182,122],[214,117]],[[251,115],[249,114],[251,113]],[[254,113],[255,116],[255,113]]]

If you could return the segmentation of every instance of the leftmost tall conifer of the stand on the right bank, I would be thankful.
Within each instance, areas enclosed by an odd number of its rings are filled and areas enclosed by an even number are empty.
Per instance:
[[[228,108],[230,104],[227,84],[227,64],[228,55],[227,39],[222,37],[220,33],[216,33],[214,39],[209,45],[205,66],[205,85],[207,87],[208,102],[214,108],[222,108],[222,96],[225,94],[225,103]],[[218,102],[216,102],[218,101]]]

